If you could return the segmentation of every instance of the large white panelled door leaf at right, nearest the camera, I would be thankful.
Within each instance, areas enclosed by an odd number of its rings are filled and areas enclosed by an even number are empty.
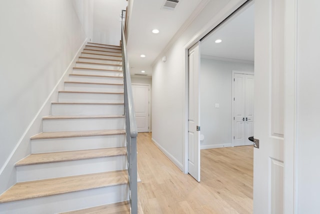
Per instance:
[[[253,213],[283,213],[284,2],[254,1]],[[257,145],[257,142],[255,142]]]

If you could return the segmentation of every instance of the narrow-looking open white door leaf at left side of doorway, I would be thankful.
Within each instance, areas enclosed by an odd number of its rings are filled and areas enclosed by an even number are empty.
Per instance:
[[[200,42],[188,51],[188,173],[200,181]]]

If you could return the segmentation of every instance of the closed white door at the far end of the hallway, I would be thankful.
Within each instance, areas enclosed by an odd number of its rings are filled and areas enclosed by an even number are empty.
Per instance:
[[[138,132],[149,131],[149,86],[132,84],[134,112]]]

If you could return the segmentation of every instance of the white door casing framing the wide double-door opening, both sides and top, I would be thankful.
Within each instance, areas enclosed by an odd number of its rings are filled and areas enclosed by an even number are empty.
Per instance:
[[[205,35],[213,31],[228,16],[242,5],[253,4],[254,0],[238,1],[228,4],[214,16],[183,46],[183,103],[182,103],[182,169],[188,173],[188,49]],[[285,0],[286,26],[284,29],[284,180],[283,180],[283,213],[297,212],[297,0]],[[256,35],[255,35],[256,36]]]

